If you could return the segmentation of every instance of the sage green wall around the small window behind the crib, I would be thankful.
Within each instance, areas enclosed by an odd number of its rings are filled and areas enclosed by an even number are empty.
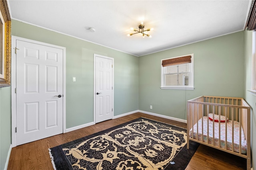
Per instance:
[[[161,59],[192,53],[195,89],[160,89]],[[203,95],[243,97],[243,63],[243,31],[139,57],[139,109],[186,119],[186,101],[192,98]]]

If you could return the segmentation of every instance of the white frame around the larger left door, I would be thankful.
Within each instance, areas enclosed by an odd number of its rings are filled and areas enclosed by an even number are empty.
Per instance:
[[[43,43],[39,41],[34,41],[31,39],[26,39],[22,37],[16,37],[12,35],[12,62],[11,62],[11,107],[12,107],[12,147],[17,146],[17,134],[16,134],[16,54],[15,54],[15,47],[16,47],[16,40],[19,41],[26,41],[29,43],[35,43],[38,45],[45,45],[49,47],[54,47],[63,50],[63,133],[66,133],[66,47],[60,47],[58,45],[52,45],[48,43]]]

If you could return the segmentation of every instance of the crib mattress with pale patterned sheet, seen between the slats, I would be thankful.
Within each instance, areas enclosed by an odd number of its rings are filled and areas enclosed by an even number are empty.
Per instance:
[[[204,131],[203,131],[203,142],[207,143],[207,120],[208,117],[203,117],[203,124],[204,124]],[[192,132],[192,128],[189,131],[189,135],[192,138],[192,133],[194,139],[197,139],[197,123],[193,126],[194,130]],[[225,149],[225,123],[220,123],[220,139],[219,139],[219,123],[214,122],[214,146],[219,147],[219,140],[220,140],[220,147]],[[223,129],[223,130],[222,130]],[[244,136],[244,130],[241,127],[241,152],[242,154],[246,154],[247,152],[247,143]],[[239,153],[239,122],[234,121],[234,151]],[[202,118],[198,121],[198,141],[202,141]],[[213,122],[209,120],[209,139],[208,143],[213,145]],[[227,150],[232,150],[232,121],[227,122]]]

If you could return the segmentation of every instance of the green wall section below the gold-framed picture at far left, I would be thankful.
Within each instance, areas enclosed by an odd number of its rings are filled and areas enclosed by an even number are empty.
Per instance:
[[[11,133],[11,88],[0,88],[0,170],[6,164],[12,141]]]

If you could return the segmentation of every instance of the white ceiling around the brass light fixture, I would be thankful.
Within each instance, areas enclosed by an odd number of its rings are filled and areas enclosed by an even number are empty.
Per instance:
[[[142,56],[241,31],[250,0],[9,0],[12,19]],[[154,28],[142,38],[130,27]],[[93,27],[94,33],[88,30]]]

